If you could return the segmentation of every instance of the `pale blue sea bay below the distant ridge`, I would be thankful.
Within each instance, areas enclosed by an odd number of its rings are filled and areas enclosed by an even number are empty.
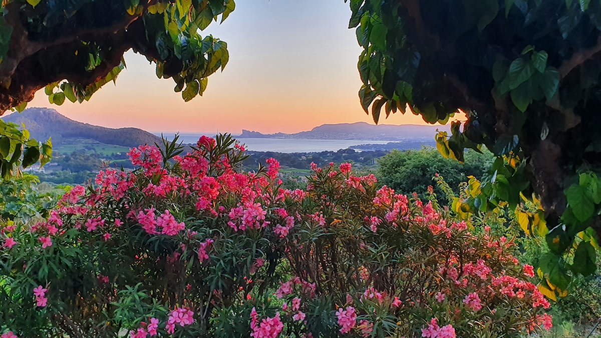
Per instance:
[[[160,136],[160,133],[157,134]],[[197,143],[202,135],[210,134],[180,134],[183,143]],[[171,139],[171,137],[169,137]],[[359,144],[386,144],[394,141],[375,140],[307,140],[291,138],[236,138],[240,143],[246,145],[246,150],[254,152],[278,152],[278,153],[313,153],[313,152],[337,152],[340,149],[353,149]],[[397,140],[398,141],[398,140]]]

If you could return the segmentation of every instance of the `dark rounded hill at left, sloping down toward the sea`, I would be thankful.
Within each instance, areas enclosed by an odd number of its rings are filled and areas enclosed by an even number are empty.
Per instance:
[[[28,108],[20,114],[2,117],[2,120],[25,124],[31,137],[38,141],[52,137],[53,144],[61,144],[66,138],[88,138],[104,144],[137,147],[140,144],[161,144],[160,137],[138,128],[105,128],[71,120],[49,108]]]

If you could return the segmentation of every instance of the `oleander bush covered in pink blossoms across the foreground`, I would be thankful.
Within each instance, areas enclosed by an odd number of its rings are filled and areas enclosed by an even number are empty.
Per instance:
[[[240,173],[202,137],[129,152],[49,217],[2,223],[6,337],[519,337],[551,327],[511,238],[351,165]]]

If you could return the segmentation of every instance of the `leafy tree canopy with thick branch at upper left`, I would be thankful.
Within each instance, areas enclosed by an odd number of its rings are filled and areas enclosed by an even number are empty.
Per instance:
[[[223,22],[235,7],[234,0],[3,1],[0,115],[22,111],[44,87],[56,105],[89,100],[117,80],[130,49],[156,64],[157,77],[172,78],[185,101],[192,100],[229,60],[227,43],[201,31]],[[40,145],[27,134],[0,125],[3,177],[16,173],[19,164],[49,159],[51,143]]]

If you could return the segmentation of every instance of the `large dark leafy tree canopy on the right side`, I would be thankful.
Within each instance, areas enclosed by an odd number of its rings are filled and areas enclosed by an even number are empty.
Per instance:
[[[566,281],[594,271],[591,236],[601,235],[601,3],[349,3],[349,27],[363,48],[365,112],[376,123],[407,106],[429,123],[466,112],[468,121],[451,123],[451,135],[437,135],[442,155],[463,161],[464,149],[486,146],[498,160],[472,182],[465,209],[514,209],[538,195],[552,251],[543,272]]]

